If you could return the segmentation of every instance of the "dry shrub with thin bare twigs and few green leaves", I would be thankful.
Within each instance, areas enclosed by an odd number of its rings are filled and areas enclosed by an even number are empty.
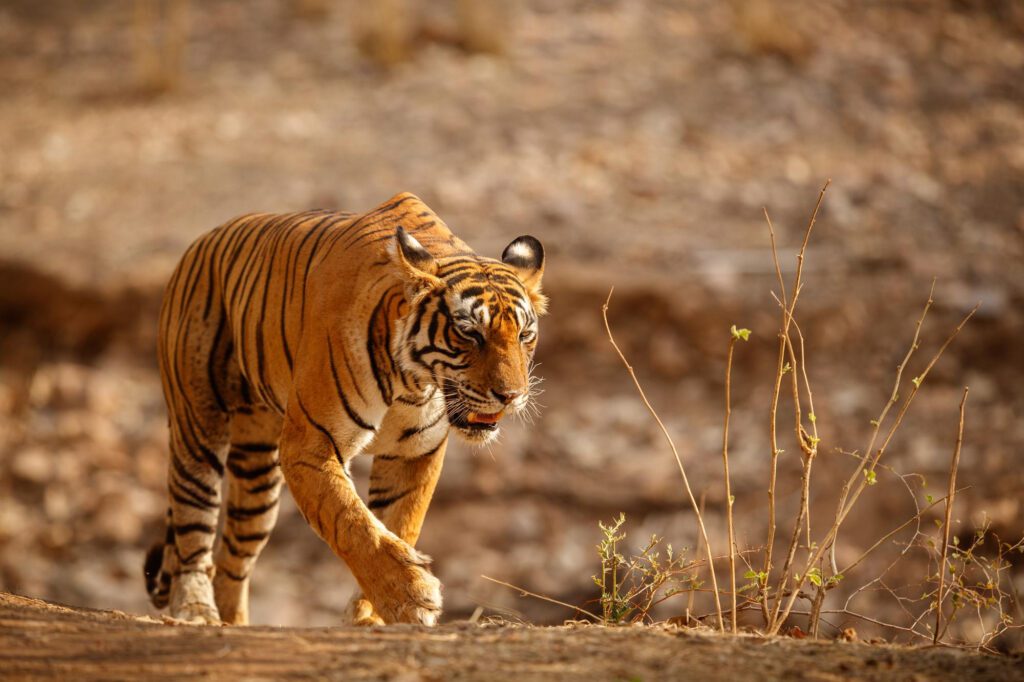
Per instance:
[[[760,612],[761,625],[756,629],[764,636],[781,633],[813,637],[819,635],[820,626],[827,624],[835,629],[837,636],[843,639],[853,639],[856,633],[845,625],[835,625],[829,619],[842,619],[844,623],[861,622],[880,627],[897,639],[908,642],[945,644],[950,646],[978,648],[993,651],[999,647],[1006,648],[1010,633],[1019,632],[1022,626],[1015,622],[1011,609],[1018,611],[1020,621],[1020,599],[1013,586],[1011,562],[1009,557],[1014,553],[1024,553],[1024,540],[1005,542],[994,537],[987,524],[970,532],[970,540],[962,540],[961,534],[953,534],[950,524],[956,495],[956,473],[959,465],[959,453],[964,440],[964,417],[967,409],[968,389],[964,389],[959,403],[959,420],[957,437],[951,446],[952,457],[949,464],[946,495],[939,499],[925,496],[919,500],[919,491],[923,487],[924,477],[919,474],[902,474],[895,471],[885,461],[885,456],[899,431],[904,417],[922,390],[935,365],[940,360],[945,350],[954,341],[961,330],[968,324],[977,310],[977,306],[969,311],[916,373],[907,378],[915,351],[922,344],[922,329],[928,312],[933,305],[935,283],[924,305],[921,315],[913,328],[913,336],[902,361],[896,370],[892,390],[876,419],[870,421],[867,434],[867,444],[863,451],[841,454],[849,457],[853,466],[840,489],[834,491],[830,498],[835,501],[836,511],[831,519],[823,519],[827,529],[819,537],[812,534],[811,510],[809,500],[812,489],[822,494],[813,485],[814,463],[818,457],[818,446],[821,436],[818,434],[817,418],[814,413],[814,396],[807,372],[807,349],[804,335],[801,332],[796,315],[797,304],[804,289],[803,271],[807,247],[817,220],[818,210],[824,199],[828,182],[818,195],[814,211],[804,231],[803,242],[797,254],[796,273],[790,289],[786,289],[782,278],[782,268],[778,260],[775,244],[775,231],[768,217],[768,232],[774,258],[778,292],[774,294],[778,304],[780,319],[778,328],[778,353],[775,366],[774,390],[768,409],[769,428],[768,441],[768,480],[767,480],[767,531],[765,543],[756,549],[739,551],[735,544],[733,530],[732,507],[733,499],[729,488],[728,469],[728,433],[730,406],[730,383],[733,351],[738,341],[745,341],[749,330],[730,330],[725,375],[725,420],[722,437],[722,460],[725,471],[725,499],[728,548],[716,554],[709,543],[705,529],[702,505],[698,505],[693,496],[691,481],[686,473],[684,462],[676,449],[668,429],[665,427],[654,408],[650,404],[643,387],[629,360],[615,343],[607,321],[607,310],[611,299],[603,307],[604,324],[615,352],[625,365],[643,403],[660,428],[673,456],[679,467],[684,491],[689,499],[698,526],[698,542],[702,545],[705,559],[657,564],[650,561],[649,554],[658,547],[660,541],[652,539],[639,555],[623,556],[618,543],[625,539],[621,531],[623,518],[611,525],[600,525],[603,540],[598,546],[601,561],[601,577],[595,577],[595,582],[601,588],[601,613],[596,614],[584,609],[580,613],[595,621],[613,624],[624,621],[648,621],[649,607],[646,602],[638,603],[638,596],[646,599],[657,593],[660,596],[654,603],[677,594],[688,595],[685,617],[671,619],[673,623],[689,624],[693,621],[690,612],[694,592],[707,592],[702,588],[700,572],[707,571],[711,581],[712,596],[715,609],[706,616],[714,616],[718,629],[726,630],[726,622],[721,605],[722,598],[730,600],[730,630],[735,633],[737,613],[741,611]],[[792,519],[792,525],[786,525],[790,532],[786,537],[779,536],[781,525],[777,518],[776,500],[779,492],[778,483],[779,456],[782,451],[778,446],[779,398],[783,389],[792,392],[793,436],[800,451],[801,475],[797,493],[799,504]],[[870,547],[861,552],[856,559],[847,565],[840,566],[837,561],[836,546],[840,541],[841,530],[851,512],[863,494],[879,482],[880,472],[891,474],[894,479],[909,495],[913,501],[914,513],[901,523],[883,535]],[[827,492],[825,492],[827,494]],[[932,518],[935,529],[927,521],[930,515],[942,511],[941,518]],[[742,519],[740,519],[741,521]],[[815,519],[822,520],[822,519]],[[821,527],[821,523],[817,524]],[[864,579],[857,576],[851,581],[851,576],[863,572],[868,565],[865,560],[880,550],[889,549],[892,559],[884,562],[882,570],[873,578]],[[698,553],[701,550],[698,547]],[[758,558],[760,557],[760,561]],[[670,557],[672,558],[672,557]],[[736,587],[736,559],[745,565],[743,578],[746,583]],[[716,561],[727,561],[729,587],[719,588],[716,577]],[[915,561],[915,563],[909,563]],[[901,565],[905,574],[908,567],[920,577],[910,585],[891,585],[889,576],[897,564]],[[646,567],[641,569],[641,567]],[[609,570],[611,577],[609,579]],[[638,584],[624,584],[618,579],[621,570],[628,571],[631,578],[639,578]],[[685,580],[683,580],[685,579]],[[828,599],[834,590],[843,585],[847,590],[845,600]],[[852,587],[857,585],[857,587]],[[863,595],[883,595],[892,600],[900,613],[898,620],[885,621],[871,612],[857,610],[857,599]],[[531,595],[536,596],[536,595]],[[797,608],[798,601],[806,607]],[[829,603],[839,602],[839,603]],[[878,602],[876,602],[877,605]],[[955,636],[950,633],[950,624],[970,615],[970,628],[961,628]],[[806,616],[803,622],[805,630],[796,624],[797,616]]]

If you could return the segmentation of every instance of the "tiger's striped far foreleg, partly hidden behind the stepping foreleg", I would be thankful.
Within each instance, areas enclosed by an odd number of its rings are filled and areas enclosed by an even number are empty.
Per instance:
[[[425,453],[386,454],[374,458],[368,506],[389,530],[412,546],[420,538],[446,446],[445,434],[439,445]],[[361,594],[352,597],[349,610],[353,625],[382,622],[373,604]]]

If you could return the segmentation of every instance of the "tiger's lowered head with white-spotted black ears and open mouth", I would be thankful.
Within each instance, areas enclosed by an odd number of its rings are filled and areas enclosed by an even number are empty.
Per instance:
[[[493,440],[502,418],[526,410],[536,392],[538,317],[547,310],[544,247],[519,237],[500,261],[434,258],[398,227],[392,255],[410,304],[396,335],[401,369],[441,390],[449,422],[464,438]]]

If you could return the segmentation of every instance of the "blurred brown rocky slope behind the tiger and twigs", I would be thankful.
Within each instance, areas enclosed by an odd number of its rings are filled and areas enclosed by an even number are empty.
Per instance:
[[[446,617],[570,616],[480,576],[593,599],[597,522],[621,511],[631,546],[656,532],[694,552],[676,464],[605,337],[611,286],[616,338],[719,548],[725,349],[730,325],[753,330],[730,454],[737,540],[763,544],[779,315],[762,207],[788,283],[829,177],[799,318],[822,436],[813,528],[852,466],[837,449],[866,444],[937,278],[908,376],[981,307],[888,461],[924,475],[913,495],[942,495],[970,385],[954,530],[988,519],[1019,536],[1022,74],[1016,0],[5,0],[0,589],[151,612],[142,552],[166,506],[156,315],[174,263],[243,212],[365,210],[399,190],[483,254],[525,232],[549,254],[543,414],[489,450],[454,446],[427,518]],[[799,462],[782,446],[787,538]],[[841,563],[913,513],[879,478]],[[846,584],[879,574],[887,551]],[[910,553],[893,580],[927,571]],[[254,622],[336,624],[351,589],[287,500]],[[856,605],[900,616],[886,595]]]

